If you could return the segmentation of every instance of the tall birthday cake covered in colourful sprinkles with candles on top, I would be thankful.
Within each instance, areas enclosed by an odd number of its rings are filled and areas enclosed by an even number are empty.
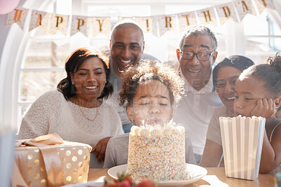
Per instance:
[[[129,134],[127,173],[141,181],[181,181],[185,169],[185,128],[161,125],[133,126]]]

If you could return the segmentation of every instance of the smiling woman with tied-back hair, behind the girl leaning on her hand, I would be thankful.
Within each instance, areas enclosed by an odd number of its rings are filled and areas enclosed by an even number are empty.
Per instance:
[[[200,165],[204,167],[223,166],[221,158],[223,155],[223,147],[221,146],[221,129],[218,118],[235,116],[234,90],[235,82],[244,69],[252,66],[254,62],[247,57],[240,55],[232,55],[226,57],[213,70],[214,89],[218,92],[218,96],[223,102],[223,106],[218,107],[211,117],[207,130],[207,140],[204,147],[204,153]]]

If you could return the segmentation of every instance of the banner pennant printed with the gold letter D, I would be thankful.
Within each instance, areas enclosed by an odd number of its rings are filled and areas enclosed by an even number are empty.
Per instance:
[[[218,18],[221,21],[221,25],[229,19],[237,22],[237,16],[232,3],[216,6],[216,11],[218,12]]]

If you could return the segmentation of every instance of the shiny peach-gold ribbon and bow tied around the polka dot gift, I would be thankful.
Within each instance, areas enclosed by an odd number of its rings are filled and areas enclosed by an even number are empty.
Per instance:
[[[60,157],[58,155],[58,151],[55,147],[51,145],[55,144],[63,144],[63,139],[58,136],[58,134],[51,133],[46,134],[43,136],[36,137],[31,140],[17,140],[15,143],[15,146],[37,146],[39,150],[41,151],[45,168],[46,168],[46,174],[47,174],[47,181],[48,186],[63,186],[64,180],[63,180],[63,169],[62,169],[62,163],[60,161]],[[27,151],[21,151],[20,158],[27,158],[28,157],[28,150]],[[25,178],[22,176],[19,166],[15,162],[14,165],[14,174],[12,179],[12,185],[14,186],[27,186],[27,183],[25,183]],[[27,164],[20,164],[20,167],[24,167],[22,170],[27,171]]]

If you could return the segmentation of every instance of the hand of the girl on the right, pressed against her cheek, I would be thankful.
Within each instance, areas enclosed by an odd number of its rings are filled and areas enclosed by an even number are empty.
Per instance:
[[[275,102],[273,99],[259,99],[256,107],[251,111],[251,116],[261,116],[263,118],[271,118],[276,113]]]

